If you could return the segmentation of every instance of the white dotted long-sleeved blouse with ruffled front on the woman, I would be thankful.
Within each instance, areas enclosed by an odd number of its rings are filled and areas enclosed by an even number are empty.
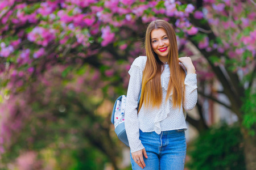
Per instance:
[[[139,93],[142,86],[142,72],[146,66],[147,57],[140,56],[136,58],[128,71],[130,74],[129,86],[127,90],[127,103],[125,110],[125,129],[130,145],[131,152],[142,150],[144,146],[139,139],[139,129],[143,132],[155,131],[160,134],[161,131],[185,129],[185,112],[183,113],[183,106],[185,111],[190,111],[195,107],[197,102],[197,80],[196,74],[188,74],[185,77],[185,100],[181,104],[180,109],[172,107],[172,92],[170,93],[170,100],[166,99],[167,88],[170,79],[170,68],[164,65],[164,70],[161,75],[162,85],[162,104],[160,108],[144,108],[144,104],[137,114]]]

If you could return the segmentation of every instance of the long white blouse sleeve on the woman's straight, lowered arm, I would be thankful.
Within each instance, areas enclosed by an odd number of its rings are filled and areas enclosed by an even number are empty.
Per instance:
[[[125,129],[131,152],[142,150],[144,146],[139,139],[139,121],[137,114],[139,93],[141,92],[142,69],[131,65],[125,109]]]

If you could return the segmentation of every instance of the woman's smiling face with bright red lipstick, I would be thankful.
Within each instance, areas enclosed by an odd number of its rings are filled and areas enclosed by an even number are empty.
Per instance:
[[[163,28],[151,31],[151,46],[162,62],[167,62],[170,50],[170,42]]]

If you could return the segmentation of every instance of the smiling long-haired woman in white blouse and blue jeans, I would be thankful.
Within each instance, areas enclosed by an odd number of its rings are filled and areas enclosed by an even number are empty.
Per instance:
[[[191,58],[179,58],[174,29],[165,20],[148,25],[145,48],[146,56],[136,58],[129,70],[125,128],[131,164],[133,169],[184,169],[184,111],[196,105],[196,70]]]

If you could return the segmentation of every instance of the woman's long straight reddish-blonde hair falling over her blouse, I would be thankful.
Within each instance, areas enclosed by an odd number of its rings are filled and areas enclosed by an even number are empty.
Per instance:
[[[146,108],[148,108],[149,105],[159,108],[162,103],[161,74],[163,71],[163,63],[160,61],[158,55],[154,52],[151,46],[151,32],[153,29],[159,28],[163,28],[164,31],[166,31],[168,40],[170,42],[168,53],[170,80],[168,84],[166,101],[168,100],[171,91],[173,91],[172,101],[174,107],[180,108],[181,102],[184,100],[185,72],[179,66],[175,31],[171,24],[165,20],[155,20],[148,25],[146,31],[144,45],[146,49],[147,62],[142,76],[142,92],[138,112],[141,109],[142,104],[144,104]]]

